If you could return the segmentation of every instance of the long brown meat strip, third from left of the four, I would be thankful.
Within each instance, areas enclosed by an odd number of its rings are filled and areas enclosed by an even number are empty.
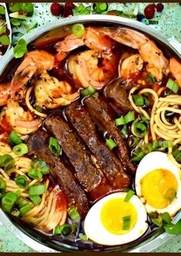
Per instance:
[[[82,140],[96,156],[99,166],[109,183],[116,189],[129,186],[129,176],[124,172],[122,163],[97,135],[96,125],[85,108],[76,103],[69,105],[65,111]]]

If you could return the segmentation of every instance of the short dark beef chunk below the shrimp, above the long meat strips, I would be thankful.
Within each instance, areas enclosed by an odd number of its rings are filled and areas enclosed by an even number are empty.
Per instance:
[[[126,114],[132,111],[132,105],[128,100],[128,93],[124,86],[124,80],[118,78],[106,87],[106,97],[108,100],[119,109],[121,114]]]

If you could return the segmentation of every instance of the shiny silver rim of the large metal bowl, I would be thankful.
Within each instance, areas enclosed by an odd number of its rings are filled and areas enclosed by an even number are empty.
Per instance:
[[[45,32],[49,32],[51,29],[56,29],[60,26],[67,26],[73,23],[82,22],[84,24],[94,24],[94,25],[102,25],[102,26],[124,26],[132,29],[137,29],[140,32],[146,33],[149,37],[152,37],[162,49],[169,49],[169,53],[173,53],[178,56],[181,60],[181,55],[178,51],[169,43],[169,41],[162,35],[160,32],[157,32],[155,29],[150,28],[142,24],[141,22],[132,21],[131,19],[121,18],[112,15],[83,15],[83,16],[75,16],[67,19],[61,19],[56,22],[51,22],[45,26],[34,29],[32,32],[29,32],[27,35],[23,36],[23,38],[31,43],[33,40],[37,39],[39,36],[45,34]],[[0,67],[0,76],[4,72],[5,68],[8,66],[8,63],[13,59],[12,49],[5,54],[5,56],[1,59],[1,67]],[[178,217],[177,217],[178,219]],[[17,222],[13,219],[10,219],[6,213],[4,213],[0,209],[0,221],[5,227],[8,227],[8,230],[12,231],[21,241],[27,244],[29,247],[32,247],[35,251],[79,251],[78,247],[72,246],[70,244],[66,244],[64,242],[52,243],[51,240],[47,240],[43,234],[38,234],[35,230],[26,227],[22,224],[21,221]],[[152,251],[159,245],[166,242],[169,235],[166,233],[162,233],[161,230],[156,230],[156,232],[146,238],[146,240],[142,242],[130,243],[126,246],[120,247],[108,247],[106,248],[106,252],[113,251],[136,251],[136,252],[144,252],[144,251]],[[91,247],[87,247],[87,250],[91,250]],[[99,251],[96,250],[95,251]]]

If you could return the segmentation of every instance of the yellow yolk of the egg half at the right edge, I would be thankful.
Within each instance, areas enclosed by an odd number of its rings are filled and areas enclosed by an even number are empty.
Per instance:
[[[163,209],[176,197],[178,183],[173,172],[155,169],[141,179],[142,196],[149,206]]]

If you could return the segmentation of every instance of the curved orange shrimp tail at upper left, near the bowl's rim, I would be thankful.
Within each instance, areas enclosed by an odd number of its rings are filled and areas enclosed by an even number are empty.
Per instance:
[[[15,92],[18,91],[23,85],[25,85],[32,76],[38,71],[52,70],[54,67],[55,58],[52,54],[45,52],[44,50],[35,50],[28,52],[25,55],[25,59],[19,65],[15,71],[14,77],[11,82],[11,97],[15,96]]]

